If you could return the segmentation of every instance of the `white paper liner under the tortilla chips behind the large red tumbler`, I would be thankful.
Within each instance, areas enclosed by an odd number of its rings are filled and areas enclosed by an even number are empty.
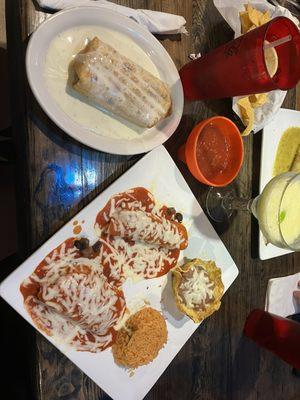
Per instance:
[[[241,35],[241,22],[240,22],[240,11],[245,11],[244,4],[251,3],[251,5],[259,11],[269,11],[271,18],[283,15],[290,18],[296,25],[299,26],[297,18],[293,17],[292,14],[284,7],[272,6],[266,0],[214,0],[214,5],[219,10],[222,17],[228,23],[228,25],[234,31],[234,37]],[[251,93],[249,93],[251,94]],[[285,98],[286,91],[273,90],[268,93],[268,102],[264,105],[254,109],[254,133],[260,131],[268,122],[272,120],[274,115],[281,107]],[[237,105],[238,100],[244,96],[233,98],[233,111],[240,117],[239,107]]]

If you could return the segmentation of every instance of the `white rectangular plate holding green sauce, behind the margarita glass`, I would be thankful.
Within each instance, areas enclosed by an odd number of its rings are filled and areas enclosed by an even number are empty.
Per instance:
[[[262,151],[260,162],[260,183],[259,193],[273,177],[273,166],[275,162],[277,147],[284,131],[291,126],[300,126],[300,112],[281,108],[274,119],[264,127],[262,139]],[[259,258],[283,256],[292,253],[291,250],[284,250],[272,244],[265,244],[261,231],[259,231]]]

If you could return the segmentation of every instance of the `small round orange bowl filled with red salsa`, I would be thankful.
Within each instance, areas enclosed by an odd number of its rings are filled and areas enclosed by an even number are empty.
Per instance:
[[[240,131],[225,117],[208,118],[190,133],[179,158],[193,176],[209,186],[226,186],[239,173],[244,158]]]

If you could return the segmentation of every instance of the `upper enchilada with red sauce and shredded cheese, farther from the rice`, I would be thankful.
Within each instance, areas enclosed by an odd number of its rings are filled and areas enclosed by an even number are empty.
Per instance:
[[[98,213],[95,231],[102,243],[101,262],[109,282],[120,286],[127,278],[135,281],[151,279],[167,273],[176,265],[180,251],[178,248],[167,248],[165,243],[169,241],[171,245],[177,244],[182,238],[178,232],[172,232],[173,224],[165,218],[164,209],[166,207],[156,206],[153,195],[145,188],[133,188],[113,196]],[[143,219],[144,230],[141,225],[140,228],[137,226],[137,220],[136,223],[131,221],[130,227],[123,228],[123,223],[129,215],[135,215],[134,218],[138,217],[138,220]],[[158,223],[154,224],[153,219]],[[119,236],[108,235],[108,221],[120,224]],[[147,226],[148,222],[150,227]],[[156,225],[159,225],[158,234],[155,230]],[[127,235],[131,230],[138,230],[140,234],[143,231],[147,237],[141,241],[136,233],[133,236]],[[154,240],[151,241],[151,237]],[[159,242],[157,238],[160,238],[160,244],[155,243]],[[148,242],[145,243],[146,241]]]

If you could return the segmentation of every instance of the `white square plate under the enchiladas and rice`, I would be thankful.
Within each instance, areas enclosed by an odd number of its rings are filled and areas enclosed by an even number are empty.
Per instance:
[[[52,249],[66,238],[74,236],[73,222],[75,220],[85,221],[82,224],[81,235],[95,238],[93,225],[98,211],[112,195],[136,186],[149,189],[159,202],[175,207],[177,211],[183,213],[184,223],[189,232],[189,246],[181,256],[215,260],[222,269],[222,280],[227,290],[237,277],[238,269],[172,158],[166,149],[160,146],[137,162],[20,265],[1,284],[1,296],[32,324],[23,307],[23,299],[19,291],[23,279],[32,273]],[[134,297],[143,296],[153,308],[163,313],[168,329],[168,342],[158,357],[152,363],[138,368],[132,377],[129,376],[127,370],[115,364],[110,349],[97,354],[70,351],[61,343],[54,343],[51,337],[41,333],[114,400],[140,400],[198,327],[188,317],[177,311],[170,283],[170,274],[168,274],[135,284],[126,282],[124,285],[126,301],[130,302]]]

